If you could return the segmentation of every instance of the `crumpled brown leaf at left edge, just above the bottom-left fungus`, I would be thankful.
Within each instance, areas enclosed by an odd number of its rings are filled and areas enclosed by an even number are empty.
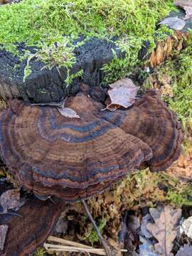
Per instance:
[[[8,210],[18,210],[23,206],[23,201],[20,198],[18,189],[10,189],[1,194],[0,205],[3,208],[3,212],[6,213]]]

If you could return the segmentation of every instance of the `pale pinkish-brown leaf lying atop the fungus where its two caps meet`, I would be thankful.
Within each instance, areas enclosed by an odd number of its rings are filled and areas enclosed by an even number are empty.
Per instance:
[[[107,109],[110,110],[112,105],[127,108],[134,103],[138,87],[134,85],[131,79],[123,78],[112,83],[110,87],[112,90],[108,90],[108,94],[110,95],[111,103],[107,106]]]

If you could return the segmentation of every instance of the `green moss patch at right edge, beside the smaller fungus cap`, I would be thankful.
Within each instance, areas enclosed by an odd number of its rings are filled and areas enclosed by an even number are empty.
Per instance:
[[[161,70],[171,76],[174,81],[174,97],[167,98],[169,107],[178,114],[183,127],[192,123],[192,33],[188,46],[180,55],[174,56]]]

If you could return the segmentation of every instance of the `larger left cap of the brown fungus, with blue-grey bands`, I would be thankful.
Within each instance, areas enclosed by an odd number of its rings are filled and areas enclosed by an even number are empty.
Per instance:
[[[65,106],[80,118],[18,100],[0,114],[0,156],[40,198],[89,198],[151,159],[146,142],[100,117],[101,103],[80,92]]]

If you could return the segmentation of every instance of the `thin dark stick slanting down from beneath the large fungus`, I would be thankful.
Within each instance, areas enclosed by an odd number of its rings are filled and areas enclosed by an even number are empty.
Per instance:
[[[91,221],[93,227],[95,228],[95,231],[97,232],[98,237],[100,238],[100,240],[102,242],[102,245],[103,245],[103,247],[105,249],[106,255],[107,256],[112,256],[112,251],[110,250],[110,247],[107,245],[107,242],[105,241],[105,239],[102,237],[102,234],[100,233],[100,230],[97,228],[95,220],[93,220],[92,215],[90,213],[90,210],[87,207],[87,203],[85,202],[84,199],[80,199],[80,201],[82,202],[82,204],[83,204],[83,206],[85,208],[85,211],[86,211],[88,217],[90,218],[90,221]]]

